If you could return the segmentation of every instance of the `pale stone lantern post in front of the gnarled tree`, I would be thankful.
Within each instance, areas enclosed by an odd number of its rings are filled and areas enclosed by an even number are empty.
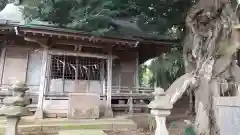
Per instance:
[[[153,92],[155,99],[150,102],[148,107],[156,120],[155,135],[169,135],[166,127],[166,117],[171,114],[173,105],[170,103],[170,97],[166,96],[162,88],[155,88]]]

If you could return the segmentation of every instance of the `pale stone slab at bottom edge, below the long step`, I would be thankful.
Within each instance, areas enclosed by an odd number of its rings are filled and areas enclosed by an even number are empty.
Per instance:
[[[102,130],[60,130],[58,135],[107,135]]]

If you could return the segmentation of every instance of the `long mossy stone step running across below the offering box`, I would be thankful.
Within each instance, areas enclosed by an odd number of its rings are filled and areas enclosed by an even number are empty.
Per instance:
[[[0,135],[4,134],[6,121],[0,120]],[[61,130],[134,130],[137,124],[128,119],[99,119],[99,120],[69,120],[69,119],[44,119],[36,121],[21,120],[18,126],[20,134],[36,135],[57,134]]]

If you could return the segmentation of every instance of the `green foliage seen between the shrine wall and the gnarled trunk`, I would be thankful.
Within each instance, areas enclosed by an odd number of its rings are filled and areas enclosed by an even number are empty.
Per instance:
[[[170,52],[153,59],[150,65],[140,67],[140,85],[154,87],[156,83],[167,89],[184,72],[182,50],[172,48]]]

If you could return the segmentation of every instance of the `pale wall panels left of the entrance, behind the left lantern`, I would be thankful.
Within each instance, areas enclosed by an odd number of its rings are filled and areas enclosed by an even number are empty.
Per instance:
[[[1,48],[1,85],[7,86],[16,80],[25,82],[31,91],[38,91],[42,68],[42,52],[20,46]]]

